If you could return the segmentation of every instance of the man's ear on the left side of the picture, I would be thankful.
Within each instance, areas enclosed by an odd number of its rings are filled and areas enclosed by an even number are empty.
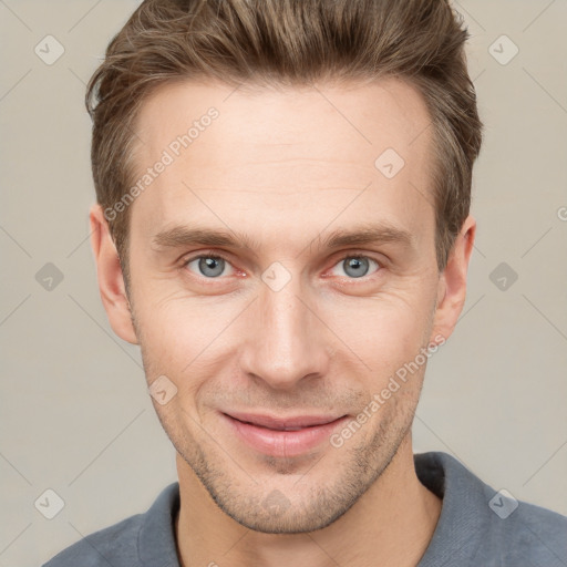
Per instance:
[[[97,204],[93,205],[89,218],[99,289],[112,330],[121,339],[137,344],[118,252],[111,237],[109,223],[104,217],[102,207]]]

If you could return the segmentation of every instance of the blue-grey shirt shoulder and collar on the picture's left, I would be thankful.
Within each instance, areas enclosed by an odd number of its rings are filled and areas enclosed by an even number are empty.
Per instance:
[[[82,537],[42,567],[178,567],[174,533],[178,507],[179,484],[175,482],[147,512]]]

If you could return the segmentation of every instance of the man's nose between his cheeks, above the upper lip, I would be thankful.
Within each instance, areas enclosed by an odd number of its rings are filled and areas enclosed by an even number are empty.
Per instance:
[[[332,333],[312,303],[298,278],[279,291],[261,286],[243,330],[241,371],[277,390],[326,375]]]

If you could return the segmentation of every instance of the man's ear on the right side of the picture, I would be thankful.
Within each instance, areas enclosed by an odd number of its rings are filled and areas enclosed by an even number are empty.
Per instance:
[[[466,299],[466,275],[476,235],[476,220],[466,217],[455,238],[445,269],[439,279],[437,307],[430,341],[440,343],[452,334]],[[435,339],[437,337],[437,339]]]

